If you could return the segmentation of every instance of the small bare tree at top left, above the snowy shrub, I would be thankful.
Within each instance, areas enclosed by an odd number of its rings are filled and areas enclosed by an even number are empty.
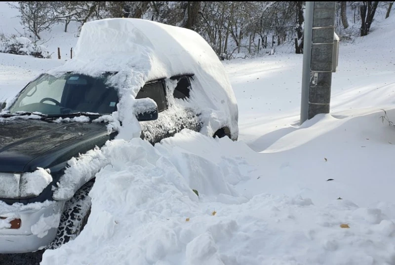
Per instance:
[[[19,10],[21,25],[33,33],[35,41],[41,39],[41,32],[49,30],[57,22],[50,13],[50,2],[18,2],[10,6]]]

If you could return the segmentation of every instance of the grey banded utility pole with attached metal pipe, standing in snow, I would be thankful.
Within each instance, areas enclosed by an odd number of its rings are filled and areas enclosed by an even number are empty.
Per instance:
[[[301,124],[316,114],[329,113],[333,64],[337,62],[333,56],[336,1],[306,1],[305,14]]]

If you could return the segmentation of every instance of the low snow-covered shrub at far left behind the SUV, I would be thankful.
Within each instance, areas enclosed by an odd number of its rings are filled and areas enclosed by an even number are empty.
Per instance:
[[[37,43],[34,43],[29,38],[17,37],[15,35],[11,37],[6,37],[4,34],[0,35],[0,52],[30,55],[36,58],[51,58],[45,46],[37,45]]]

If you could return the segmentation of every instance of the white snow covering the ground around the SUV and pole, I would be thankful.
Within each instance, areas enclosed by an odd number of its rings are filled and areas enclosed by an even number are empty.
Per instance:
[[[239,141],[105,147],[87,226],[41,264],[395,265],[394,23],[341,46],[331,114],[302,126],[302,56],[226,62]],[[0,99],[63,62],[0,53]]]

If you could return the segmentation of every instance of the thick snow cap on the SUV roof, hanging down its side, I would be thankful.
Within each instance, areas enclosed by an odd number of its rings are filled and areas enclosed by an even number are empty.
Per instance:
[[[203,131],[210,133],[210,122],[220,122],[237,136],[237,104],[225,68],[196,32],[141,19],[97,20],[83,25],[75,53],[50,74],[118,72],[109,81],[120,95],[118,112],[113,114],[122,121],[118,138],[140,136],[140,125],[131,114],[140,88],[147,81],[181,74],[196,76],[197,93],[191,99],[203,115],[212,117]]]

